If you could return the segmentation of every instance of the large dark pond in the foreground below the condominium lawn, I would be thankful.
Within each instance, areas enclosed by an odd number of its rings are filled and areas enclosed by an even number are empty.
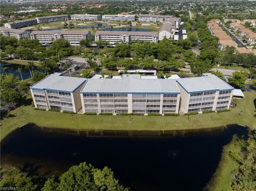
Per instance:
[[[86,161],[97,168],[111,168],[131,190],[202,190],[217,168],[222,147],[233,135],[247,133],[237,125],[202,131],[78,133],[28,124],[2,141],[1,160],[2,165],[49,175]],[[88,136],[100,134],[123,137]]]

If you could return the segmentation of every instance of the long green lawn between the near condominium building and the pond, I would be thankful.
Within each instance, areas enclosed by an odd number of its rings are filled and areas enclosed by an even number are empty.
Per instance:
[[[238,100],[238,105],[230,112],[203,113],[190,115],[173,116],[139,116],[132,115],[74,115],[34,110],[31,105],[20,106],[11,111],[15,117],[2,120],[1,139],[14,129],[26,123],[35,123],[38,126],[66,129],[95,129],[95,130],[178,130],[178,129],[200,129],[219,127],[226,124],[237,123],[256,129],[256,119],[253,117],[255,106],[254,99],[256,92],[245,93],[244,99]],[[239,112],[242,111],[241,117]]]

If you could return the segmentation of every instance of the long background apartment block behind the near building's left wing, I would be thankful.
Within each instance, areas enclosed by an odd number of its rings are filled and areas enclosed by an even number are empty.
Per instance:
[[[33,32],[31,32],[30,38],[39,40],[39,43],[41,44],[51,44],[54,40],[64,38],[69,41],[70,45],[79,45],[81,39],[91,39],[92,35],[91,32],[87,30],[34,30]]]

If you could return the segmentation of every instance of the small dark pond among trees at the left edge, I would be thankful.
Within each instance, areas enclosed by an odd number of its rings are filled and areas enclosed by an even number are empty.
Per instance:
[[[18,68],[21,68],[22,69],[21,74],[22,74],[23,80],[31,78],[29,70],[25,69],[25,65],[6,63],[6,64],[0,64],[0,67],[1,67],[1,69],[2,69],[2,67],[9,68],[7,70],[7,73],[13,73],[14,76],[19,76],[20,80],[21,80],[21,76],[20,76],[20,73],[17,72],[17,70],[18,70]],[[39,71],[39,70],[37,70],[37,68],[35,68],[34,71]],[[42,72],[42,71],[39,71],[39,72]],[[1,71],[1,73],[4,73],[4,72]]]

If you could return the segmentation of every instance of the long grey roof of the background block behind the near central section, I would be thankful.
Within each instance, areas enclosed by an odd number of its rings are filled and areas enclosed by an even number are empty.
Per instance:
[[[133,35],[158,37],[158,32],[98,30],[97,32],[95,32],[95,35]]]

